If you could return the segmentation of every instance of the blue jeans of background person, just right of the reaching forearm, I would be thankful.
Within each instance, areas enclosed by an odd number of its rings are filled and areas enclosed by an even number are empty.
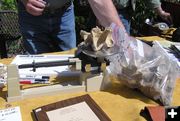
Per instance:
[[[130,27],[131,27],[131,15],[129,14],[128,10],[117,10],[119,14],[119,18],[124,25],[126,32],[130,34]]]

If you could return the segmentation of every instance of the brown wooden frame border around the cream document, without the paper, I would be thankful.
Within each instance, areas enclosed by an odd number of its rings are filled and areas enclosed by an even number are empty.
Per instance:
[[[36,121],[51,121],[48,118],[47,112],[65,108],[82,102],[85,102],[89,106],[89,108],[93,111],[93,113],[98,117],[100,121],[111,121],[111,119],[106,115],[106,113],[88,94],[38,107],[33,110],[33,114]]]

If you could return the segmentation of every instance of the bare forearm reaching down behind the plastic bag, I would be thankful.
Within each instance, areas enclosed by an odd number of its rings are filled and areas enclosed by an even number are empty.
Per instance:
[[[108,27],[111,23],[115,23],[124,29],[120,18],[118,17],[116,8],[112,0],[88,0],[94,14],[98,18],[100,24]]]

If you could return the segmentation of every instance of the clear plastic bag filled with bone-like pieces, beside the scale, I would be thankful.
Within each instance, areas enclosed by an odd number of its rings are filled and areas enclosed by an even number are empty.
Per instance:
[[[176,78],[180,69],[158,42],[149,46],[129,37],[116,25],[113,38],[119,46],[118,54],[108,56],[110,70],[120,81],[146,96],[170,105]]]

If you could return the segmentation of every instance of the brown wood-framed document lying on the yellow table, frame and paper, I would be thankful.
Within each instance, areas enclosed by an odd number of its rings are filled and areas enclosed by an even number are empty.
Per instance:
[[[37,121],[111,121],[89,95],[48,104],[33,113]]]

